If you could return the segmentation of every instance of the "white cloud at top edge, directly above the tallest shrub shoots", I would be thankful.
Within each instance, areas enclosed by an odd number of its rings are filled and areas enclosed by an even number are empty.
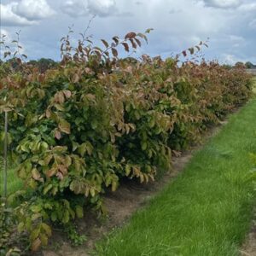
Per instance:
[[[83,15],[107,17],[117,14],[114,0],[67,0],[62,3],[61,10],[72,17]]]

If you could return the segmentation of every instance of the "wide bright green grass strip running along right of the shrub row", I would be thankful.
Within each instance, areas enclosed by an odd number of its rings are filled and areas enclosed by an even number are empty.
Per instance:
[[[97,244],[96,255],[240,255],[253,218],[256,100],[230,116],[182,173],[121,229]]]

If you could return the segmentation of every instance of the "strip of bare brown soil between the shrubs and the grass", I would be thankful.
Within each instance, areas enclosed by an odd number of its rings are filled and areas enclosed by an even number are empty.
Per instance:
[[[226,121],[220,125],[225,125]],[[209,137],[212,137],[219,131],[219,127],[214,127],[207,131],[206,136],[201,144],[204,144]],[[80,234],[87,236],[87,241],[81,247],[72,247],[65,239],[65,234],[60,231],[54,231],[52,241],[50,241],[47,250],[44,250],[38,255],[43,256],[88,256],[91,249],[94,248],[96,241],[102,239],[114,228],[124,225],[131,217],[133,212],[143,207],[147,201],[154,197],[166,183],[172,182],[173,177],[176,177],[181,172],[184,166],[189,162],[193,153],[201,148],[197,145],[190,150],[183,152],[179,157],[173,157],[172,172],[166,173],[163,177],[154,183],[140,184],[134,180],[126,181],[119,186],[119,189],[114,193],[108,192],[103,196],[104,205],[108,211],[108,218],[105,221],[96,218],[96,214],[88,212],[83,219],[80,219],[78,224]],[[256,247],[256,246],[255,246]],[[244,254],[246,256],[247,254]],[[256,254],[250,254],[256,255]]]

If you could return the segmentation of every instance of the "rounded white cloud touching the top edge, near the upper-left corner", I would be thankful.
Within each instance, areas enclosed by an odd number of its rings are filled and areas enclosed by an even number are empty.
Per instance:
[[[42,20],[55,14],[46,0],[21,0],[13,4],[12,10],[16,15],[27,20]]]

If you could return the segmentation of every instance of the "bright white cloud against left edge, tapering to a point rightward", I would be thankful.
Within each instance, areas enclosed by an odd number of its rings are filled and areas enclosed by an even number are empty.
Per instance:
[[[12,8],[16,3],[0,4],[2,26],[28,26],[35,24],[32,20],[16,15]]]

